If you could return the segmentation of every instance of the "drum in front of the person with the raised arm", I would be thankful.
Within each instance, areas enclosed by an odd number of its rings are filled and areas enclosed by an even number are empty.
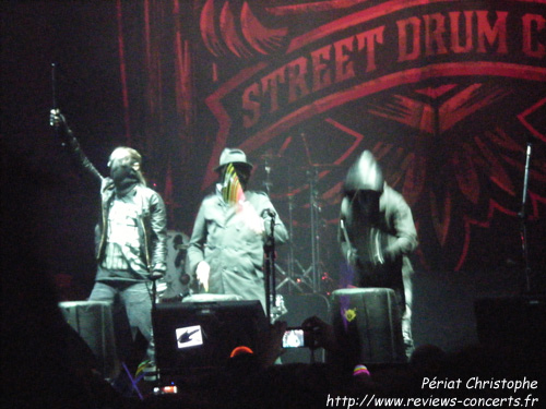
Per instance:
[[[97,370],[105,378],[119,372],[111,305],[105,301],[64,301],[59,308],[69,325],[97,358]]]

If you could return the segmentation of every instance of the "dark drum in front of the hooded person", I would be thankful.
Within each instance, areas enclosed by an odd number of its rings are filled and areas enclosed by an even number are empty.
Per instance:
[[[378,364],[406,361],[394,290],[340,289],[331,298],[335,335],[355,360]]]

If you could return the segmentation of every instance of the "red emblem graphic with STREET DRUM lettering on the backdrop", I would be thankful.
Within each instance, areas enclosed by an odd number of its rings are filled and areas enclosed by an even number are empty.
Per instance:
[[[545,15],[542,0],[206,0],[207,168],[225,146],[242,148],[304,228],[317,178],[335,225],[346,169],[371,149],[414,209],[424,264],[463,268],[476,227],[517,218],[527,136],[546,142]],[[202,188],[214,180],[211,170]],[[531,180],[538,218],[544,165]]]

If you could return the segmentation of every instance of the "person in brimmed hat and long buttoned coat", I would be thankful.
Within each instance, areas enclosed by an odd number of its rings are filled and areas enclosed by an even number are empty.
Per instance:
[[[247,191],[252,165],[242,151],[225,148],[214,170],[219,182],[201,203],[186,272],[205,292],[260,300],[266,311],[264,243],[272,218],[275,243],[286,242],[286,228],[264,192]]]

